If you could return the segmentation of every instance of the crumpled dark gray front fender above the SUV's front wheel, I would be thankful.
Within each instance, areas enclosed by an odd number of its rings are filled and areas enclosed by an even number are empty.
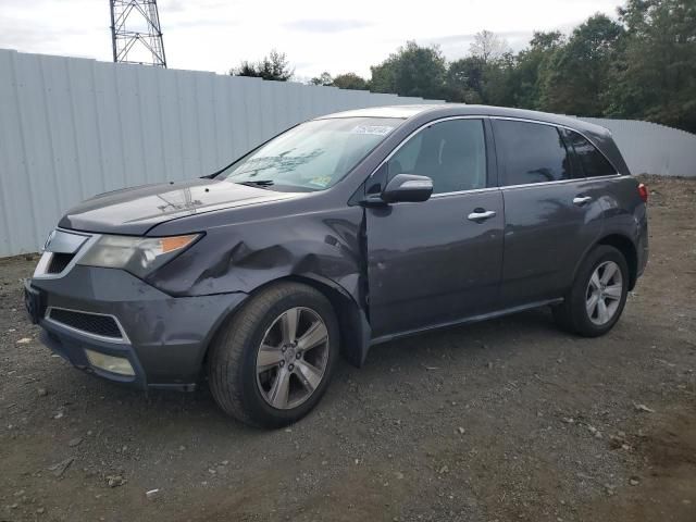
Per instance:
[[[220,226],[173,259],[147,282],[176,297],[253,294],[284,278],[300,278],[330,291],[341,323],[344,355],[362,365],[371,339],[366,307],[364,210],[344,207],[253,219],[221,217]],[[249,215],[251,214],[251,215]],[[210,215],[208,216],[208,220]],[[157,226],[151,235],[196,232],[196,219]]]

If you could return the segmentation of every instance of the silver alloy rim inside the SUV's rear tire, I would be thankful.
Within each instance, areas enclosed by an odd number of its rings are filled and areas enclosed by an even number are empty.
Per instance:
[[[589,277],[585,291],[585,309],[593,324],[604,326],[619,310],[623,297],[623,275],[613,261],[599,263]]]

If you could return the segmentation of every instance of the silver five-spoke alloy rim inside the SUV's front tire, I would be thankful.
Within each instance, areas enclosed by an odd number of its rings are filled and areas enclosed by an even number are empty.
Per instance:
[[[328,365],[328,330],[319,313],[294,307],[265,331],[257,351],[257,385],[272,408],[289,410],[319,388]]]

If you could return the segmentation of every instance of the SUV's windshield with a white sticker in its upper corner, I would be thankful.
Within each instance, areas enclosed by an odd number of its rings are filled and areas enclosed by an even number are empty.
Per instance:
[[[302,123],[233,163],[217,178],[272,190],[323,190],[344,177],[400,123],[388,117]]]

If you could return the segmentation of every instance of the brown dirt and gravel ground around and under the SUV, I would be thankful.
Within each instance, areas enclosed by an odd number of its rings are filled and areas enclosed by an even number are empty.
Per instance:
[[[0,521],[696,521],[696,181],[646,182],[610,334],[538,310],[382,345],[275,432],[72,369],[25,318],[36,257],[0,260]]]

